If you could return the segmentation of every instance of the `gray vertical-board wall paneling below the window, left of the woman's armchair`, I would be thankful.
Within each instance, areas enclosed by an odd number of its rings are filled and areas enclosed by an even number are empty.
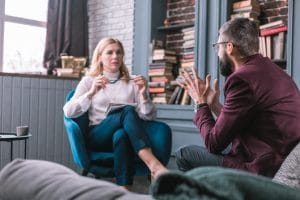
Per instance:
[[[78,81],[0,75],[0,130],[29,125],[27,158],[73,164],[63,125],[65,95]],[[10,160],[10,145],[0,143],[0,167]],[[24,156],[24,142],[14,142],[14,158]]]

